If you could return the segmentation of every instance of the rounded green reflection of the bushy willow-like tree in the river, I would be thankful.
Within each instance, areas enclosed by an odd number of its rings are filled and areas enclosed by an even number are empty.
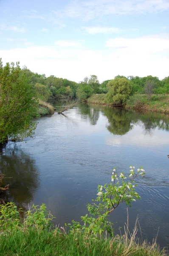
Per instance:
[[[132,114],[123,108],[103,108],[109,125],[107,130],[115,135],[124,135],[132,129]]]

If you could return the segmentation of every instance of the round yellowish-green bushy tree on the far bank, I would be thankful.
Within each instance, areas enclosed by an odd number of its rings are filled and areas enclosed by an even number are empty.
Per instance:
[[[131,84],[128,79],[115,78],[107,84],[109,91],[106,95],[105,102],[113,105],[124,105],[131,92]]]

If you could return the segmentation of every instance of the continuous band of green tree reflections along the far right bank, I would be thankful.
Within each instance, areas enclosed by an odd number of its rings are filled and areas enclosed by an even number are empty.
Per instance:
[[[114,135],[124,135],[132,130],[133,124],[144,128],[144,134],[152,134],[155,128],[169,131],[169,115],[163,113],[139,112],[124,108],[111,108],[100,105],[80,106],[82,115],[89,116],[90,122],[96,125],[99,111],[108,119],[107,130]],[[93,113],[93,115],[92,115]]]

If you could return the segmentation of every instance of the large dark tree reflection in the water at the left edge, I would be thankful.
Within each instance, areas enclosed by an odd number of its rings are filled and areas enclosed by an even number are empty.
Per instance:
[[[14,144],[0,148],[0,173],[6,175],[3,183],[10,184],[8,192],[1,197],[4,201],[12,201],[19,207],[33,200],[34,192],[39,186],[35,160],[28,154],[14,147]]]

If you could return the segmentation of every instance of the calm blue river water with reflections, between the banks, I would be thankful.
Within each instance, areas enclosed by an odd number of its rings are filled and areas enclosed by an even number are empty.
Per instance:
[[[24,209],[45,203],[62,226],[87,213],[113,167],[127,174],[130,165],[143,166],[146,176],[137,180],[142,199],[129,209],[130,230],[138,216],[138,236],[152,242],[158,234],[160,246],[169,246],[169,115],[79,104],[65,116],[56,112],[35,121],[33,138],[0,148],[0,172],[10,183],[0,197]],[[115,233],[119,227],[123,233],[126,205],[110,219]]]

